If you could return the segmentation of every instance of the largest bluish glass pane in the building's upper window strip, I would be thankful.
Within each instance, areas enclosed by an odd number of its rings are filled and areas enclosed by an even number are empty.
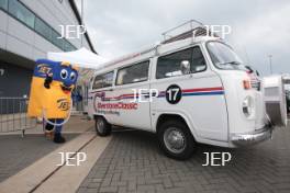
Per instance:
[[[34,29],[35,15],[21,2],[9,0],[9,12],[31,29]]]

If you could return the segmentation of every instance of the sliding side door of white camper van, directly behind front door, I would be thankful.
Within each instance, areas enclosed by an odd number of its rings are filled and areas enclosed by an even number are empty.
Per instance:
[[[149,117],[149,60],[123,67],[116,72],[115,89],[110,98],[115,99],[118,114],[110,123],[115,125],[150,129]]]

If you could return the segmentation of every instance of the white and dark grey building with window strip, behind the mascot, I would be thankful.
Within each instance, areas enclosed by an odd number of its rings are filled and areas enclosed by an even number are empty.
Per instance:
[[[34,61],[47,52],[96,53],[88,33],[58,38],[59,25],[79,24],[74,0],[0,0],[0,98],[29,95]]]

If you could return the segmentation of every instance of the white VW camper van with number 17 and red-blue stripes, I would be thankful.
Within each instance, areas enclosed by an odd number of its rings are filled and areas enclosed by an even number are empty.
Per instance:
[[[260,79],[202,26],[104,66],[89,90],[100,136],[111,125],[153,132],[176,159],[198,143],[239,147],[271,137]]]

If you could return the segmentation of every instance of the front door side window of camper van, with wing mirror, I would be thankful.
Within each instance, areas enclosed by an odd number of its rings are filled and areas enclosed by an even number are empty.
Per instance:
[[[161,56],[157,61],[156,78],[169,78],[194,73],[207,69],[205,60],[199,46]]]

